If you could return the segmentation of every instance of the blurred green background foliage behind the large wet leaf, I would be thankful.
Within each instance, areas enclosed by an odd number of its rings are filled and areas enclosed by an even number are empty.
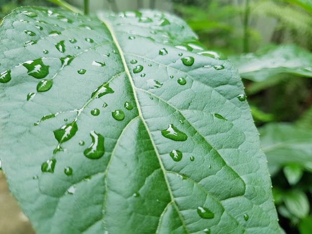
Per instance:
[[[1,0],[0,18],[20,5]],[[66,2],[82,8],[83,0]],[[91,0],[91,12],[156,8],[190,25],[236,65],[267,155],[280,224],[312,233],[312,0]]]

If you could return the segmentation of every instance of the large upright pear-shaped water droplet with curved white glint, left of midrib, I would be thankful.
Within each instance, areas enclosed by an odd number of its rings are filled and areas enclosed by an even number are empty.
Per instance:
[[[105,153],[104,149],[104,136],[96,133],[95,131],[90,132],[92,138],[92,143],[90,146],[83,152],[83,154],[90,159],[98,159],[102,157]]]

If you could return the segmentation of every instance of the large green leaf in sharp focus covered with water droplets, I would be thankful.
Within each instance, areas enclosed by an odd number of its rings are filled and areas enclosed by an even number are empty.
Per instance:
[[[0,158],[38,234],[281,232],[239,75],[182,20],[19,8],[0,38]]]

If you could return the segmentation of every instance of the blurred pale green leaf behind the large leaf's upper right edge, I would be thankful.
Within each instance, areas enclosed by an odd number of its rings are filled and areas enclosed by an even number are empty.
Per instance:
[[[312,53],[297,45],[271,45],[241,56],[229,56],[242,78],[255,82],[279,73],[312,77]]]

